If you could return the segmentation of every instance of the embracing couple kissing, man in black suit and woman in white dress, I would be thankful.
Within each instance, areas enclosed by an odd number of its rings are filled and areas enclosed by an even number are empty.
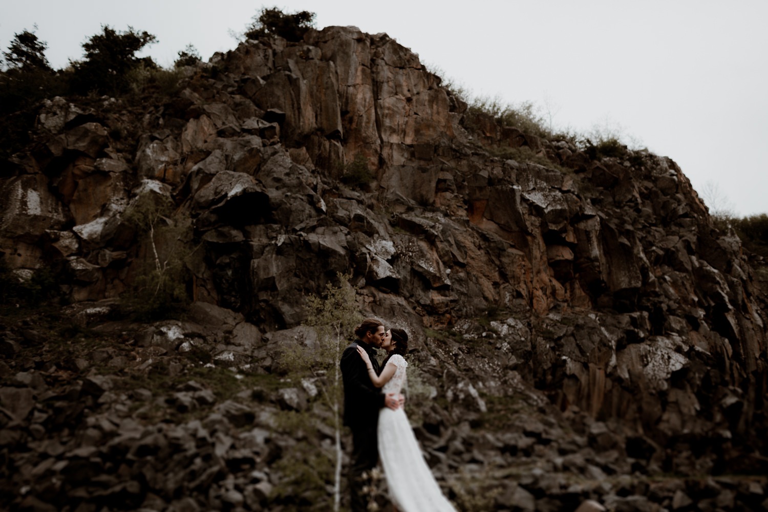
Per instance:
[[[341,356],[344,424],[352,430],[349,492],[353,512],[368,510],[364,474],[379,459],[389,497],[400,512],[455,512],[442,495],[403,410],[408,333],[367,319],[355,329],[356,341]],[[386,350],[381,365],[376,349]]]

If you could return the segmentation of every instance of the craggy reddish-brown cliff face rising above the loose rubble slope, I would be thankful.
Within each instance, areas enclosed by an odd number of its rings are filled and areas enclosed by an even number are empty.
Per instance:
[[[190,296],[240,315],[220,352],[240,361],[257,338],[271,368],[262,333],[290,339],[303,297],[350,273],[361,309],[407,327],[455,397],[445,421],[525,396],[617,421],[584,435],[647,467],[681,436],[765,441],[751,433],[766,427],[764,296],[666,157],[594,160],[470,119],[412,51],[355,28],[243,43],[162,107],[65,130],[86,110],[45,104],[42,145],[0,177],[5,261],[66,262],[74,301],[116,298],[154,251],[194,253]],[[154,247],[131,220],[147,196],[167,206]]]

